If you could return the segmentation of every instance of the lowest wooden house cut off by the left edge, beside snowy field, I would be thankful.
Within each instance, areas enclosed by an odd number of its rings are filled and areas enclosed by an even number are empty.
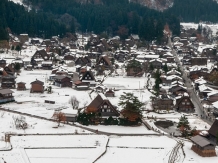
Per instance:
[[[0,104],[14,101],[13,93],[10,89],[0,89]]]

